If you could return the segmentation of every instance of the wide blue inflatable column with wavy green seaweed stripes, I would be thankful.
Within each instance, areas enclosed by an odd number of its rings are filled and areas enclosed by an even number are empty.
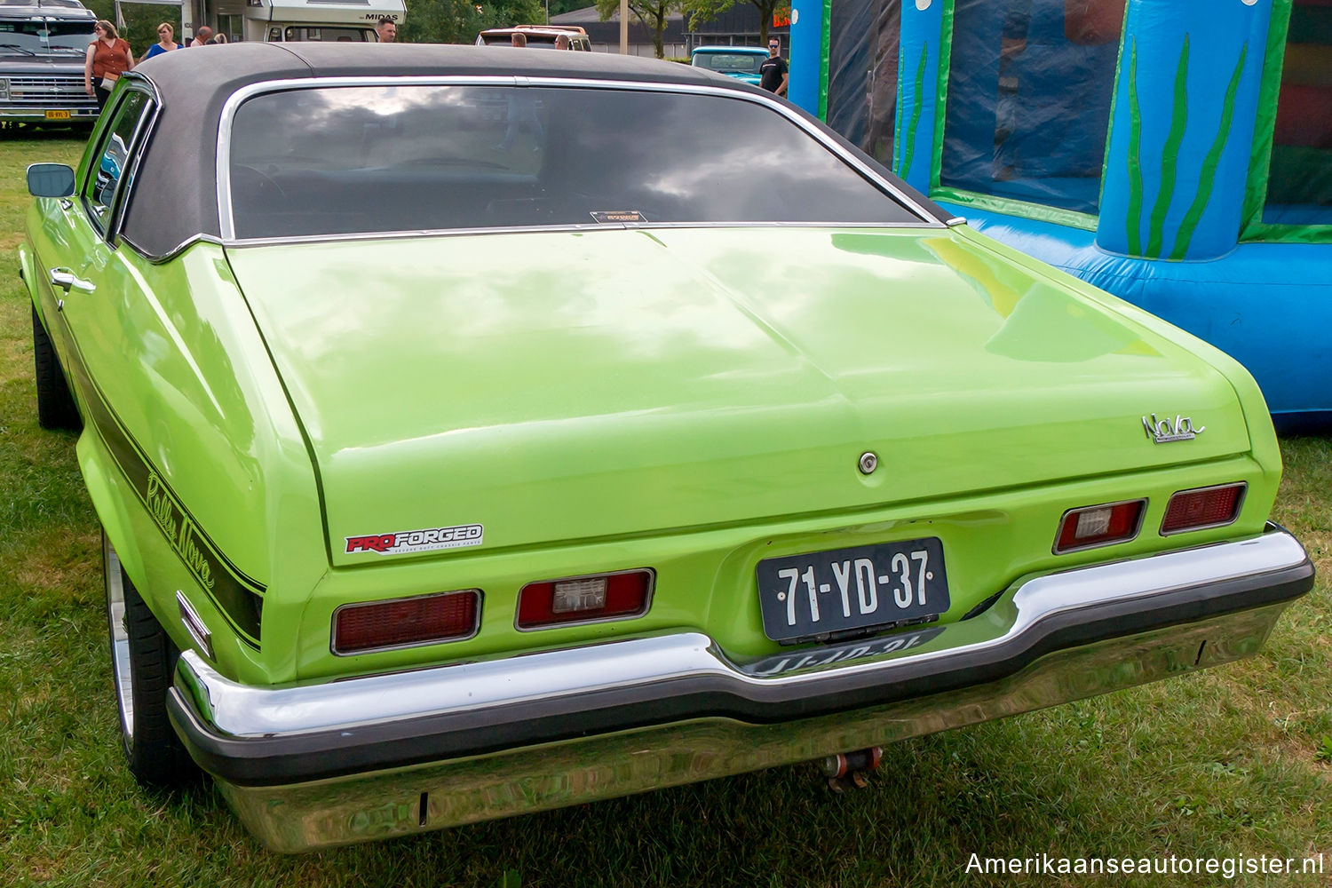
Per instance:
[[[1096,244],[1146,258],[1235,249],[1272,0],[1130,0]]]

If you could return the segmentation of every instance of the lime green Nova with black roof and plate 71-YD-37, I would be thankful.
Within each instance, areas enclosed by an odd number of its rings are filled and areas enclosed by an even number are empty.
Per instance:
[[[280,851],[854,775],[1312,584],[1248,373],[731,79],[166,53],[28,180],[129,768]]]

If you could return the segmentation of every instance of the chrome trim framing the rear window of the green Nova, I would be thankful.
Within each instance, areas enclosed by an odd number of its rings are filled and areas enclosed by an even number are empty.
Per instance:
[[[832,152],[835,157],[842,160],[842,162],[851,166],[854,170],[860,173],[871,185],[875,185],[882,192],[892,197],[895,201],[902,204],[908,212],[914,212],[920,217],[919,222],[896,222],[894,225],[900,225],[903,228],[946,228],[944,222],[938,221],[928,209],[922,204],[916,202],[910,194],[899,189],[887,178],[879,176],[874,169],[867,166],[858,157],[847,152],[842,145],[836,144],[834,140],[825,136],[810,124],[807,120],[801,117],[795,111],[782,105],[774,99],[762,93],[749,93],[737,89],[730,89],[725,87],[703,87],[691,84],[657,84],[657,83],[637,83],[630,80],[597,80],[586,77],[515,77],[515,76],[441,76],[441,77],[301,77],[289,80],[268,80],[264,83],[250,84],[242,87],[232,93],[226,99],[226,104],[222,105],[222,113],[217,122],[217,230],[221,232],[222,241],[228,245],[236,244],[250,244],[260,238],[237,238],[236,237],[236,218],[232,208],[232,188],[230,188],[230,154],[232,154],[232,125],[236,120],[236,112],[242,104],[249,101],[256,96],[270,92],[286,92],[290,89],[328,89],[328,88],[342,88],[342,87],[554,87],[554,88],[574,88],[574,89],[611,89],[618,92],[658,92],[658,93],[678,93],[678,95],[693,95],[693,96],[713,96],[718,99],[734,99],[739,101],[754,103],[755,105],[762,105],[770,111],[775,111],[783,116],[787,121],[799,126],[807,136],[819,142],[823,148]],[[667,224],[663,224],[667,225]],[[689,228],[707,226],[725,226],[725,228],[749,228],[745,222],[673,222],[671,225],[683,225]],[[829,224],[829,222],[769,222],[769,225],[787,225],[787,226],[831,226],[831,228],[879,228],[879,225],[867,225],[866,222],[856,224]],[[530,230],[553,230],[562,226],[533,226]],[[569,229],[578,230],[583,226],[567,226]],[[605,228],[602,225],[590,225],[587,228]],[[626,225],[626,228],[629,228]],[[655,228],[653,224],[634,225],[633,228]],[[440,229],[440,232],[456,233],[462,229]],[[501,229],[496,228],[481,228],[481,229],[468,229],[472,233],[477,232],[496,232]],[[511,230],[511,229],[510,229]],[[394,237],[400,234],[420,236],[426,232],[357,232],[350,236],[310,236],[310,237],[285,237],[285,238],[262,238],[265,242],[292,242],[292,241],[310,241],[316,238],[334,238],[345,240],[346,237],[360,237],[368,234],[376,238]]]

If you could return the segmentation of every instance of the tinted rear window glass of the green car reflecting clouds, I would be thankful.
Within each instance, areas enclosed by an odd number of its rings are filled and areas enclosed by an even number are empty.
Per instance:
[[[325,87],[237,111],[238,237],[622,222],[914,222],[775,111],[718,96]]]

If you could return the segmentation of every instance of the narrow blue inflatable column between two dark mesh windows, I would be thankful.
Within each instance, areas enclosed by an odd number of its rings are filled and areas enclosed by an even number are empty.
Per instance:
[[[942,49],[951,20],[952,0],[902,0],[892,172],[922,194],[939,177],[935,158],[943,140],[939,96],[944,84],[939,67],[947,57]]]

